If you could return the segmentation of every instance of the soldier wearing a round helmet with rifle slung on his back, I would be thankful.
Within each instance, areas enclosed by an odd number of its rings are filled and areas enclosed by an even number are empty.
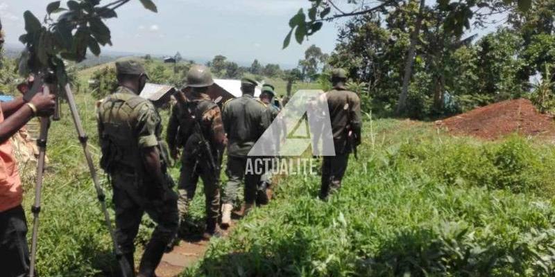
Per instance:
[[[203,179],[206,197],[206,231],[203,238],[210,239],[216,232],[220,212],[220,154],[227,139],[223,132],[221,112],[206,91],[214,84],[209,69],[194,65],[187,73],[185,95],[178,92],[178,103],[171,110],[167,141],[174,159],[177,148],[183,147],[179,179],[178,210],[180,230],[193,199],[198,177]]]

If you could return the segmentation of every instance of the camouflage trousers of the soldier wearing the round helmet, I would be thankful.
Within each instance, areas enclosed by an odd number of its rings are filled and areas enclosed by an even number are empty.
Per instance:
[[[220,215],[220,171],[214,172],[207,168],[210,166],[206,160],[182,159],[178,185],[178,210],[181,220],[184,220],[188,213],[189,205],[196,192],[198,177],[200,177],[203,179],[206,199],[206,220],[217,222]]]

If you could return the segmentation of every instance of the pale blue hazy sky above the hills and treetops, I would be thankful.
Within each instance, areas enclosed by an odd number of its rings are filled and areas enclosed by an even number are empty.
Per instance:
[[[53,0],[3,0],[0,18],[8,46],[19,45],[24,33],[23,12],[31,10],[41,19],[46,5]],[[103,1],[108,3],[109,1]],[[336,43],[336,24],[325,24],[309,42],[282,50],[289,32],[289,19],[307,0],[155,0],[158,12],[130,1],[117,10],[118,18],[108,19],[112,30],[110,51],[173,55],[208,60],[225,55],[228,60],[296,66],[311,44],[330,53]],[[62,1],[62,6],[65,6]]]

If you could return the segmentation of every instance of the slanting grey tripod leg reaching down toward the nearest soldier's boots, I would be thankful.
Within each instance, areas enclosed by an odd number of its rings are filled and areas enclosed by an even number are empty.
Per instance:
[[[81,119],[77,111],[75,98],[73,93],[71,92],[71,87],[69,87],[69,84],[66,84],[64,90],[66,93],[67,103],[69,104],[69,111],[71,111],[71,117],[73,118],[75,128],[77,129],[79,142],[81,143],[81,146],[83,146],[83,152],[85,152],[85,159],[87,159],[87,165],[89,166],[89,172],[91,173],[92,182],[94,184],[94,188],[96,189],[96,195],[99,198],[99,202],[101,204],[101,208],[104,213],[104,221],[106,223],[106,227],[108,228],[108,231],[110,232],[110,236],[112,237],[114,253],[119,262],[119,267],[121,267],[121,272],[124,277],[131,277],[131,276],[128,276],[128,272],[129,271],[133,272],[135,269],[133,268],[130,269],[132,265],[130,265],[130,262],[128,262],[128,260],[123,258],[121,251],[119,251],[119,248],[117,247],[116,236],[114,234],[114,229],[112,229],[112,223],[110,222],[110,214],[108,213],[108,208],[106,207],[106,202],[105,202],[106,197],[104,194],[104,190],[100,186],[98,175],[96,175],[96,168],[94,168],[94,162],[92,161],[92,157],[87,145],[88,137],[85,134],[85,129],[83,129],[83,125],[81,125]]]

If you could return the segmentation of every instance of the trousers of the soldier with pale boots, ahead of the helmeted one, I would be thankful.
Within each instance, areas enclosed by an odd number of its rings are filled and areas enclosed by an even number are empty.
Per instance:
[[[255,204],[260,175],[245,174],[247,162],[250,160],[251,163],[254,163],[255,159],[255,157],[228,156],[228,167],[225,170],[225,174],[228,175],[228,183],[225,184],[223,204],[232,204],[237,199],[237,192],[243,179],[245,180],[245,203]]]

